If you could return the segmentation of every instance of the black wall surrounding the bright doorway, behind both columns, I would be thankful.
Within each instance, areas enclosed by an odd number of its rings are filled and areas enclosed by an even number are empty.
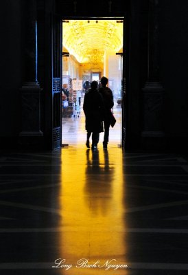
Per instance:
[[[25,1],[25,0],[23,0]],[[56,12],[62,17],[69,16],[126,16],[128,24],[128,96],[126,115],[128,148],[140,147],[142,129],[141,89],[147,81],[148,66],[148,2],[150,0],[112,1],[110,11],[108,1],[93,2],[93,8],[86,8],[86,1],[74,9],[71,1],[56,1]],[[49,129],[51,108],[49,93],[51,87],[47,79],[51,74],[51,10],[54,1],[37,0],[38,4],[38,80],[43,88],[42,127]],[[129,4],[128,4],[129,3]],[[166,148],[185,148],[188,137],[188,1],[159,0],[159,54],[160,80],[165,89],[163,108],[163,131]],[[97,4],[97,5],[96,5]],[[1,1],[1,83],[0,83],[0,139],[15,143],[21,129],[20,92],[23,84],[23,8],[22,0]],[[113,13],[115,11],[115,13]]]

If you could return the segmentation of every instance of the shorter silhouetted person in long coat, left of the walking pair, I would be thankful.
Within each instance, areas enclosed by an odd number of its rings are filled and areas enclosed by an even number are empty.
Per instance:
[[[93,150],[97,149],[99,133],[103,132],[104,101],[99,94],[97,81],[92,81],[91,88],[84,96],[83,109],[86,117],[85,128],[87,131],[86,146],[90,148],[89,138],[92,133]]]

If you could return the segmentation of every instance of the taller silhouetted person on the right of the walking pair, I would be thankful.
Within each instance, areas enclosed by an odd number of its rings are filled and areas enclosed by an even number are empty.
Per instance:
[[[103,76],[100,80],[101,86],[99,87],[99,94],[104,99],[105,115],[104,115],[104,141],[103,148],[107,148],[109,141],[109,129],[110,129],[110,113],[114,106],[113,91],[108,88],[108,78]]]

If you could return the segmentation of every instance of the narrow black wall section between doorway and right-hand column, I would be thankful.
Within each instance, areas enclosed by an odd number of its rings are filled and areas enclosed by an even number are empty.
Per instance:
[[[141,89],[148,70],[148,0],[132,0],[126,12],[126,148],[141,146]]]

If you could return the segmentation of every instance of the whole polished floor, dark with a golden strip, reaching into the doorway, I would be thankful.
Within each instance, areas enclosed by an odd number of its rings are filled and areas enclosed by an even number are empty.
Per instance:
[[[188,274],[187,156],[127,153],[119,122],[93,152],[83,122],[60,150],[1,151],[0,274]]]

